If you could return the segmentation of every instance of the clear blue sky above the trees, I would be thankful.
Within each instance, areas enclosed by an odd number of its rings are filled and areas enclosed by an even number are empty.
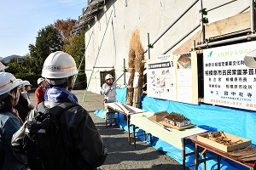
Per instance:
[[[87,0],[0,0],[0,57],[29,53],[38,31],[55,20],[78,20]]]

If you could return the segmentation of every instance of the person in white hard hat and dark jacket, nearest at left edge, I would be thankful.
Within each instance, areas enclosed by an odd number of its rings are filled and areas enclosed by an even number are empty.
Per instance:
[[[22,121],[14,106],[20,98],[20,82],[9,72],[0,72],[0,169],[26,169],[26,156],[15,153],[10,145]]]

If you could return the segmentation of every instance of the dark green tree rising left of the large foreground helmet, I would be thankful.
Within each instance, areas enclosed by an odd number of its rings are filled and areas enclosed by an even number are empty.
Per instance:
[[[35,45],[29,44],[28,48],[33,63],[31,71],[40,74],[44,65],[44,59],[52,52],[62,49],[61,34],[52,25],[38,31]]]

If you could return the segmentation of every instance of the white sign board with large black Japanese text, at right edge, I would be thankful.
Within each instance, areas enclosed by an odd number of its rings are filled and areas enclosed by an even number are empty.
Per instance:
[[[203,51],[204,102],[256,111],[256,69],[244,65],[244,56],[256,42],[244,42]]]

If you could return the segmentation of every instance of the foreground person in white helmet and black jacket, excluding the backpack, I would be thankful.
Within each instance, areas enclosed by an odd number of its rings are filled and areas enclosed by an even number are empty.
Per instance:
[[[53,107],[58,108],[61,104],[76,104],[57,117],[66,154],[55,156],[58,159],[50,163],[65,166],[58,168],[63,170],[96,169],[108,156],[108,150],[103,145],[101,135],[90,114],[79,105],[78,98],[68,91],[77,73],[76,63],[71,55],[62,51],[49,54],[44,60],[42,70],[42,77],[45,77],[49,88],[45,92],[45,100],[38,104],[29,116],[30,120],[31,117],[37,116],[34,111],[43,112],[42,110]]]

